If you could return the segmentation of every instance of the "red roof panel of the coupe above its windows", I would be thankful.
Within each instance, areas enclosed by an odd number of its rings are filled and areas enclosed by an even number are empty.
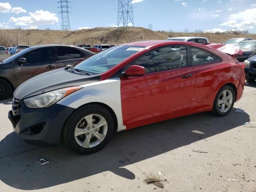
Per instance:
[[[184,42],[184,41],[166,41],[166,40],[153,40],[153,41],[138,41],[138,42],[130,42],[130,43],[125,43],[121,44],[120,46],[123,45],[129,45],[129,46],[144,46],[144,47],[149,47],[153,45],[198,45],[198,43],[194,42]]]

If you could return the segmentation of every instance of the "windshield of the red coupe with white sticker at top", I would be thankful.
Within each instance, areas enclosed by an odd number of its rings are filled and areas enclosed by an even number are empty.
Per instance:
[[[93,75],[101,74],[144,48],[144,46],[114,46],[89,57],[74,69],[87,71]]]

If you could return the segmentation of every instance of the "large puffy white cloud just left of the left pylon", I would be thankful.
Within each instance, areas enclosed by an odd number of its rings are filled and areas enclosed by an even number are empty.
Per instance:
[[[14,22],[15,25],[46,25],[46,24],[54,24],[58,23],[58,17],[54,13],[50,13],[48,11],[36,10],[36,12],[29,12],[30,16],[24,17],[11,17],[9,22]]]

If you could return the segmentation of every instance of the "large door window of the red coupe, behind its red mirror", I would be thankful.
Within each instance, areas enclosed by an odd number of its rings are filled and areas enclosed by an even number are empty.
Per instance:
[[[170,70],[187,66],[186,46],[168,46],[152,50],[131,65],[140,65],[146,68],[146,73]]]

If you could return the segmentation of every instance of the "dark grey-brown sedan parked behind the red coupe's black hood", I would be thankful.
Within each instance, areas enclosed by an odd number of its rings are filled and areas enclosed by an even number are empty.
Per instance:
[[[34,76],[72,66],[92,54],[76,46],[39,45],[11,56],[0,62],[0,100],[8,98],[20,84]]]

